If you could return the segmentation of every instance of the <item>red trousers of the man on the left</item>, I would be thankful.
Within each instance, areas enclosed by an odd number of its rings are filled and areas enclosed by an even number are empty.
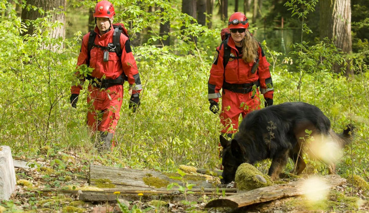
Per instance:
[[[120,118],[123,86],[114,85],[106,90],[89,85],[87,125],[92,131],[114,133]]]

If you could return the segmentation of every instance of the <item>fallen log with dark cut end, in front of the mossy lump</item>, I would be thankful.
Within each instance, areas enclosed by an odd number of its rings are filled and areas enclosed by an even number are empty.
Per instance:
[[[322,177],[325,186],[314,189],[316,191],[326,190],[331,187],[339,186],[346,182],[346,179],[339,177],[338,175],[327,175]],[[215,199],[206,204],[205,208],[214,207],[230,207],[240,208],[251,204],[263,203],[271,200],[276,200],[282,197],[291,197],[296,195],[302,195],[304,191],[304,184],[307,180],[300,180],[289,184],[279,184],[274,186],[267,186],[262,188],[256,188],[245,193],[239,193],[228,197]]]

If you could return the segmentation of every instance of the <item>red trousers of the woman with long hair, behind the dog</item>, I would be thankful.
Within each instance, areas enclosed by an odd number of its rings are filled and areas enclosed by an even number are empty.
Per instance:
[[[259,90],[256,93],[254,98],[251,98],[252,92],[242,94],[224,90],[219,115],[223,126],[221,133],[236,133],[240,114],[244,118],[250,111],[260,108]]]

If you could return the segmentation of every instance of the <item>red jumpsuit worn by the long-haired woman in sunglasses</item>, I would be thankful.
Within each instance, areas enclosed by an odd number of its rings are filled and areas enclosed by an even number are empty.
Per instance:
[[[231,48],[231,56],[237,56],[239,54],[232,37],[229,37],[228,46]],[[209,100],[212,99],[218,102],[218,99],[222,96],[222,106],[219,117],[220,123],[224,128],[222,128],[221,133],[237,132],[240,114],[245,117],[250,111],[260,108],[259,89],[256,86],[253,91],[246,94],[232,92],[223,88],[222,95],[220,95],[219,91],[224,87],[224,82],[228,84],[248,84],[259,81],[260,92],[264,95],[264,98],[273,99],[274,89],[269,71],[270,64],[266,60],[260,46],[258,54],[259,67],[257,71],[252,74],[251,69],[254,62],[246,63],[242,58],[229,58],[224,68],[224,47],[220,46],[216,49],[208,82],[208,98]]]

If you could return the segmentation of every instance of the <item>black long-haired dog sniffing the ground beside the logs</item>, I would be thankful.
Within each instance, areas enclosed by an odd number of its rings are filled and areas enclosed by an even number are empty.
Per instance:
[[[352,130],[348,125],[343,133],[338,135],[331,130],[330,120],[318,107],[303,102],[284,103],[255,110],[246,115],[234,139],[228,141],[220,135],[224,168],[221,182],[228,184],[233,181],[241,163],[253,164],[268,158],[272,159],[268,171],[272,181],[278,179],[288,157],[295,162],[292,172],[301,174],[306,167],[302,154],[309,151],[302,149],[307,147],[305,144],[333,143],[340,150],[350,142]],[[318,150],[329,152],[334,148],[321,146]],[[329,156],[329,153],[323,156],[312,154],[328,165],[330,174],[335,171],[335,160],[324,156]]]

